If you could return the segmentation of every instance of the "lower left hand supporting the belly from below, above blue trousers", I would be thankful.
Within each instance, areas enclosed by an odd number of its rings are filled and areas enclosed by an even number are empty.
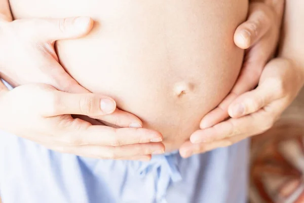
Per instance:
[[[149,160],[163,153],[162,134],[144,128],[112,128],[74,119],[70,114],[100,117],[111,98],[58,91],[46,84],[21,85],[8,91],[0,81],[0,129],[62,153],[102,158]]]

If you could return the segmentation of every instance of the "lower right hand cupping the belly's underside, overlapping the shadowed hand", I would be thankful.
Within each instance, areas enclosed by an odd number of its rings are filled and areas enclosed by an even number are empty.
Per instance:
[[[286,58],[273,59],[265,66],[257,88],[242,94],[230,105],[232,118],[194,132],[192,143],[184,144],[182,156],[230,146],[270,129],[303,84],[303,67]]]

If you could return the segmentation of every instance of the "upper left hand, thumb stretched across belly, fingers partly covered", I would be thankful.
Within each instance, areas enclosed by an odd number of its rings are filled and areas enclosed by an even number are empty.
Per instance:
[[[83,37],[92,27],[89,17],[0,20],[0,77],[13,86],[44,83],[61,91],[89,93],[59,64],[54,43]],[[103,108],[111,111],[106,103]],[[119,127],[142,126],[139,118],[119,109],[97,119]]]

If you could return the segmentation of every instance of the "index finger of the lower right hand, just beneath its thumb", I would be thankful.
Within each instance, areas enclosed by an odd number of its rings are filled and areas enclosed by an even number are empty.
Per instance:
[[[277,105],[276,108],[282,108],[282,104],[273,103],[274,105]],[[274,108],[270,109],[273,110]],[[278,114],[261,109],[241,118],[231,118],[213,127],[197,130],[191,135],[190,140],[192,143],[197,144],[201,142],[213,142],[233,136],[253,136],[268,130],[274,124]]]

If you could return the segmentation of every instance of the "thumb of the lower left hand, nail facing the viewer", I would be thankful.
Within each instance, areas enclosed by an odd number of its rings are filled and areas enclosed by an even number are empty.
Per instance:
[[[54,90],[48,96],[43,109],[45,117],[65,114],[96,117],[116,110],[115,100],[99,94],[73,94]]]

